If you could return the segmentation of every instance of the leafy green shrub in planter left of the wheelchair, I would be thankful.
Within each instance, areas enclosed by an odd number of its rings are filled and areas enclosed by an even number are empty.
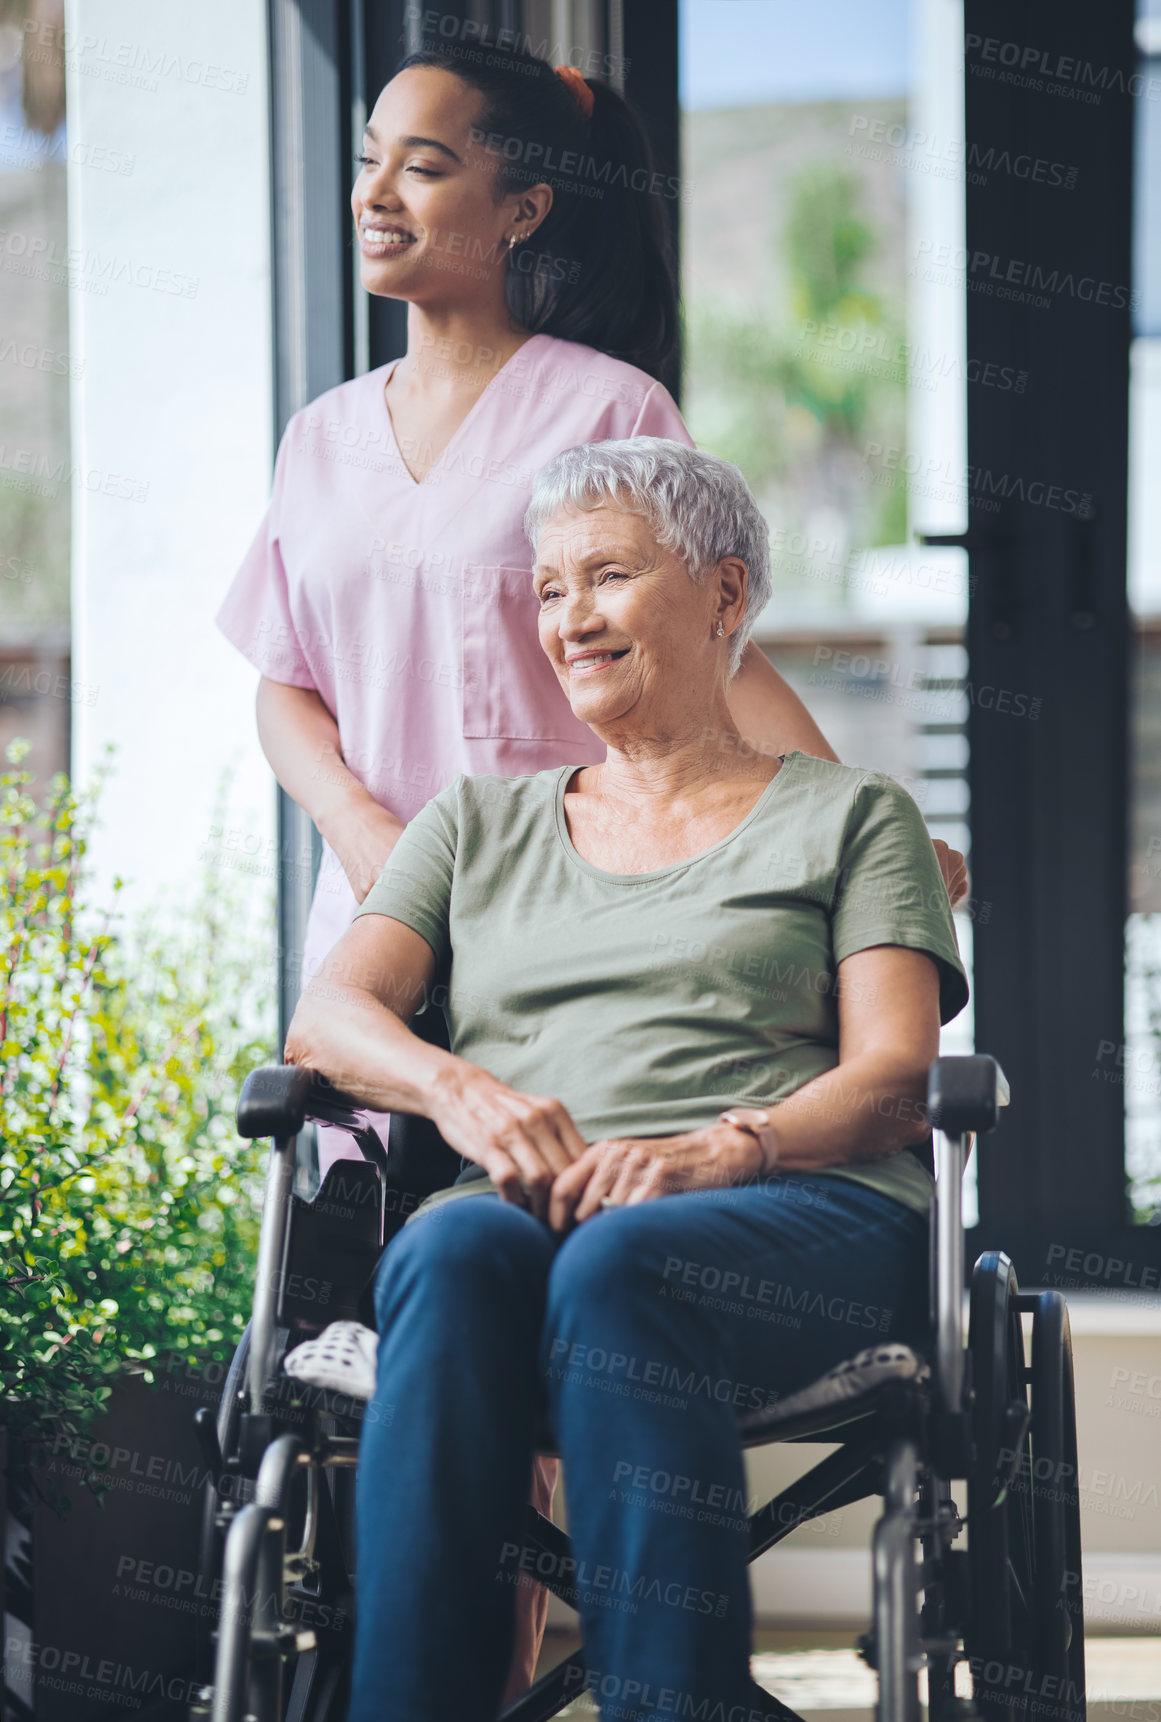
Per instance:
[[[88,1428],[126,1367],[233,1353],[258,1231],[233,1107],[274,987],[212,873],[177,928],[119,930],[119,880],[98,911],[100,784],[57,777],[38,809],[26,751],[0,775],[0,1426],[28,1455]]]

